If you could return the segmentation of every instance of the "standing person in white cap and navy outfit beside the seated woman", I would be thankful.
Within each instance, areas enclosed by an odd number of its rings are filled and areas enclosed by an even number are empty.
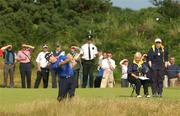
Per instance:
[[[157,95],[162,97],[163,77],[168,65],[168,52],[162,45],[160,38],[155,39],[155,44],[148,51],[148,63],[151,70],[153,97]]]

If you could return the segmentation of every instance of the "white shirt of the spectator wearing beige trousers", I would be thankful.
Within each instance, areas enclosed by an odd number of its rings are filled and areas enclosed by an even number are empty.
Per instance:
[[[115,69],[116,64],[115,61],[113,59],[103,59],[102,60],[102,68],[103,69],[110,69],[110,64],[112,65],[112,67]]]

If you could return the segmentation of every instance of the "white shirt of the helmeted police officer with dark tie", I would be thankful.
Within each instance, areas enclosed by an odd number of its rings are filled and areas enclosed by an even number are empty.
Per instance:
[[[91,55],[91,59],[89,59],[89,47],[90,46],[90,55]],[[81,47],[81,51],[80,51],[80,54],[82,54],[82,59],[84,60],[92,60],[96,57],[96,54],[98,53],[97,51],[97,47],[94,45],[94,44],[84,44],[82,47]]]

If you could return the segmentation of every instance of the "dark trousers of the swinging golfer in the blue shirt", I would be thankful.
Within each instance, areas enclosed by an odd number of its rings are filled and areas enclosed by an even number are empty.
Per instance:
[[[76,84],[74,77],[61,77],[59,83],[58,97],[64,99],[68,93],[70,98],[75,95]]]

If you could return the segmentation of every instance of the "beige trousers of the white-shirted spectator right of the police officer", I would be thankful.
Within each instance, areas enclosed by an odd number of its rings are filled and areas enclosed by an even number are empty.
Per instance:
[[[101,86],[100,88],[113,88],[114,87],[114,76],[113,76],[113,71],[110,69],[104,70],[103,78],[101,81]]]

